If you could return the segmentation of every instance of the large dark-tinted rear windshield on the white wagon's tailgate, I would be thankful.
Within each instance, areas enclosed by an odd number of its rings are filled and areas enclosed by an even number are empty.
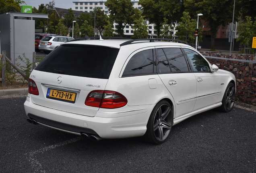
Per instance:
[[[35,70],[108,79],[118,52],[103,46],[65,44],[46,56]]]

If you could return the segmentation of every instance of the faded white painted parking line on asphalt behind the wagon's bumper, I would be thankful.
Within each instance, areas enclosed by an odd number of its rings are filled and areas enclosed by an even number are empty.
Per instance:
[[[42,167],[42,165],[39,163],[39,161],[37,161],[37,159],[35,159],[35,158],[36,158],[36,157],[35,157],[36,154],[40,154],[40,153],[43,153],[43,152],[45,152],[45,151],[49,151],[49,150],[52,150],[52,149],[56,149],[56,148],[58,148],[58,147],[61,147],[61,146],[63,146],[63,145],[67,145],[67,144],[70,144],[70,143],[79,141],[79,140],[81,140],[81,139],[82,139],[81,137],[76,137],[76,138],[74,138],[74,139],[70,139],[70,140],[64,141],[64,142],[62,142],[62,143],[50,145],[50,146],[41,148],[41,149],[39,149],[39,150],[35,150],[35,151],[32,151],[32,152],[26,153],[25,155],[28,157],[29,162],[31,162],[31,166],[32,166],[32,169],[33,169],[34,173],[46,173],[46,171],[43,170],[43,167]]]

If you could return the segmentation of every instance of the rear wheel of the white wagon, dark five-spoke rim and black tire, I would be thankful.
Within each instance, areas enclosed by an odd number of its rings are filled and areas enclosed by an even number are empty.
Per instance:
[[[149,143],[161,144],[168,138],[172,124],[171,105],[167,101],[160,101],[149,117],[147,131],[142,138]]]

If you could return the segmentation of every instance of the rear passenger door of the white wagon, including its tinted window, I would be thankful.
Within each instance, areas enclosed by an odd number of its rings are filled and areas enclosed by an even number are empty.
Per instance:
[[[196,78],[180,47],[157,48],[158,75],[175,101],[175,117],[193,111]]]

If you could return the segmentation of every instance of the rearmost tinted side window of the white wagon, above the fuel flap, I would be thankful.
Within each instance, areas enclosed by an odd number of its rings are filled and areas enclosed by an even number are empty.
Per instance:
[[[153,73],[153,50],[143,50],[130,58],[124,69],[123,76]]]

